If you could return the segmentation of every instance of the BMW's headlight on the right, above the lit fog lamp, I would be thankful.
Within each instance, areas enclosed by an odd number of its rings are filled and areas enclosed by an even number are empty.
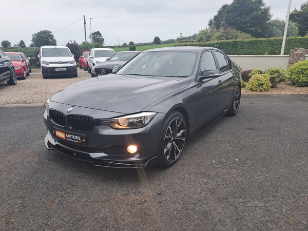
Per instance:
[[[113,119],[101,119],[101,125],[109,125],[115,129],[134,129],[145,127],[157,112],[141,112]]]

